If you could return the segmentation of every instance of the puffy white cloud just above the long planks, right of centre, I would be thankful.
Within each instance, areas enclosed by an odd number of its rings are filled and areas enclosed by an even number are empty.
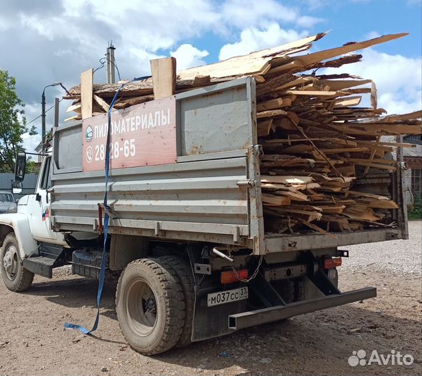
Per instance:
[[[247,54],[259,49],[271,48],[293,40],[298,40],[308,35],[307,31],[284,30],[277,23],[269,24],[266,29],[248,28],[241,32],[239,42],[227,44],[220,49],[220,60],[232,56]]]

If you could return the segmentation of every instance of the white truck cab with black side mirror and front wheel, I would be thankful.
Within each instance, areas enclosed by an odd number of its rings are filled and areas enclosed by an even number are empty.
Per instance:
[[[52,276],[52,267],[68,244],[62,233],[50,226],[51,155],[48,153],[40,169],[34,194],[20,198],[17,212],[0,214],[0,269],[10,290],[29,288],[33,273]],[[27,155],[17,155],[14,194],[22,192]]]

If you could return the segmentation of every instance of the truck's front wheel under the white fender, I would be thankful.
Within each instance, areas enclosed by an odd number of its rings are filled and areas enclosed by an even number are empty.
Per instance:
[[[5,263],[8,264],[7,267]],[[0,252],[0,269],[3,282],[10,291],[22,292],[31,287],[33,273],[24,268],[14,233],[9,233],[4,239]]]

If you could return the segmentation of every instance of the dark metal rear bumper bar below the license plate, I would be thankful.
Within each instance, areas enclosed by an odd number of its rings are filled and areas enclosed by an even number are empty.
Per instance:
[[[257,311],[236,313],[229,315],[229,329],[239,330],[253,327],[258,324],[265,324],[286,318],[292,318],[296,315],[319,311],[321,309],[341,306],[342,304],[352,303],[377,296],[377,289],[368,287],[359,290],[343,292],[342,294],[328,295],[317,299],[298,301],[285,306],[276,306],[271,308],[258,309]]]

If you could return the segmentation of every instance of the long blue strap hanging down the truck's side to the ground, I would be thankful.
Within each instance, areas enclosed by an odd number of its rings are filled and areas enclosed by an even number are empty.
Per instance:
[[[108,110],[107,142],[106,142],[106,148],[105,148],[105,192],[104,192],[104,207],[107,207],[107,209],[110,209],[110,207],[107,205],[107,191],[108,191],[108,175],[110,172],[111,112],[114,107],[114,103],[116,102],[117,97],[119,96],[119,93],[121,89],[123,88],[123,86],[125,86],[125,84],[122,84],[119,90],[116,92],[116,94],[114,94],[112,103],[110,104],[110,109]],[[96,321],[94,322],[91,330],[88,330],[85,327],[82,327],[77,324],[69,324],[68,322],[64,324],[65,328],[78,329],[82,331],[83,334],[91,334],[91,332],[96,331],[98,328],[98,322],[100,321],[100,305],[101,305],[101,295],[103,295],[103,287],[104,287],[104,280],[105,280],[105,255],[107,253],[107,234],[108,234],[109,220],[110,220],[110,217],[107,214],[107,212],[105,212],[104,213],[104,245],[103,245],[103,256],[101,258],[100,281],[98,282]]]

